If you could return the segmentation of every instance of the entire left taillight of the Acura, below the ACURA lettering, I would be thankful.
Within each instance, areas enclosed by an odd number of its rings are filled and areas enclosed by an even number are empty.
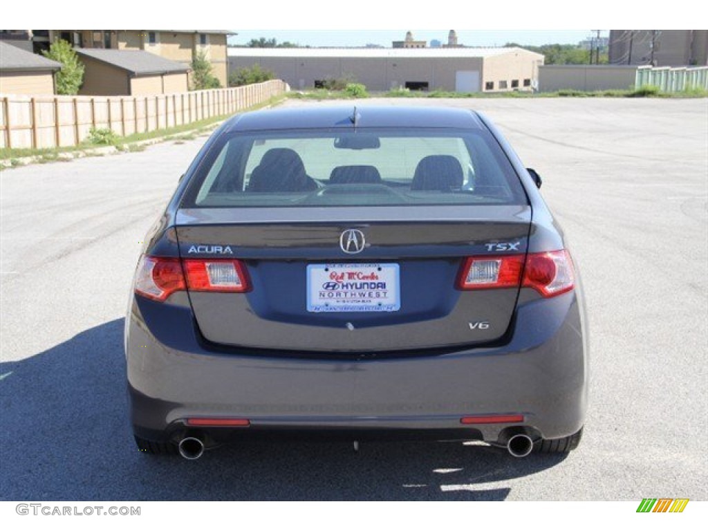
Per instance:
[[[162,302],[176,291],[244,293],[251,289],[246,268],[238,260],[202,260],[142,256],[135,292]]]

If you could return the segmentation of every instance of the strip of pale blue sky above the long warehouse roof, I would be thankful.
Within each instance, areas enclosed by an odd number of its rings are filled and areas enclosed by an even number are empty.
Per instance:
[[[252,39],[275,38],[280,42],[293,42],[312,47],[359,47],[367,44],[390,47],[394,40],[404,40],[406,31],[413,33],[415,40],[431,40],[447,44],[450,30],[234,30],[238,35],[229,38],[231,45],[246,45]],[[595,35],[593,30],[455,30],[457,42],[464,46],[493,47],[507,42],[520,45],[578,44]],[[610,30],[601,30],[607,37]]]

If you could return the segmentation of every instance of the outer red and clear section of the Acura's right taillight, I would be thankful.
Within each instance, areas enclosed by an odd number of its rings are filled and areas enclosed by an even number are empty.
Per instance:
[[[525,287],[532,287],[544,297],[568,292],[575,285],[573,261],[568,251],[532,253],[526,257]]]

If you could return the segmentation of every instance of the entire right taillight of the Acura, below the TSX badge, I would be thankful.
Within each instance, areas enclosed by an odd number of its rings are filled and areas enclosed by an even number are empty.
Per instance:
[[[575,285],[573,262],[568,251],[511,256],[472,256],[462,265],[457,280],[460,290],[498,287],[532,287],[544,297],[568,292]]]

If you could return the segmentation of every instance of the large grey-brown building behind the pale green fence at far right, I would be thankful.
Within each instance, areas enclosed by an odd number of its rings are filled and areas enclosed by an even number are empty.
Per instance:
[[[708,65],[708,30],[610,30],[610,64]]]

